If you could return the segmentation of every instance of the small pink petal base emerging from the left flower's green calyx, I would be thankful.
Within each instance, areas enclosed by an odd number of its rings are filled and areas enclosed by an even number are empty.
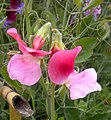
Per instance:
[[[36,35],[34,40],[33,40],[33,48],[36,50],[39,50],[42,48],[42,46],[44,45],[45,40],[43,40],[42,37]]]

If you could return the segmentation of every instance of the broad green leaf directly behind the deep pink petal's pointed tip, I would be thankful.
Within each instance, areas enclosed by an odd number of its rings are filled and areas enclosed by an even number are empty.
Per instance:
[[[76,46],[82,46],[82,51],[75,60],[75,63],[85,62],[92,54],[97,43],[95,37],[84,37],[75,42]]]

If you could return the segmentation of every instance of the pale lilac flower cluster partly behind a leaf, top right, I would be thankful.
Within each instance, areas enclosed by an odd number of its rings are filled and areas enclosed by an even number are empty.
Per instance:
[[[90,2],[90,0],[86,0],[86,1],[85,1],[85,7],[87,7],[87,6],[89,5],[89,2]],[[97,6],[97,7],[94,7],[94,8],[92,8],[92,10],[93,10],[94,20],[96,21],[97,18],[98,18],[98,16],[99,16],[99,14],[101,14],[101,6],[99,5],[99,6]],[[91,10],[86,10],[86,11],[84,12],[84,15],[87,16],[87,15],[90,14],[90,12],[91,12]]]

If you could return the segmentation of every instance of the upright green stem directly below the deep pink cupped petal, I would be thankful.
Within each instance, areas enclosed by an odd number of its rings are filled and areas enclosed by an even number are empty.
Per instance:
[[[51,85],[51,120],[55,120],[55,99],[54,99],[54,93],[55,93],[55,85],[52,83]]]

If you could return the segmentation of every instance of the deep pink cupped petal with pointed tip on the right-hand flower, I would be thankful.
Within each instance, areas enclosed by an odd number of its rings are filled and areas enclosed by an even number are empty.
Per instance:
[[[55,84],[64,84],[71,72],[74,71],[74,59],[81,51],[78,46],[73,50],[60,50],[56,52],[48,63],[50,80]]]

